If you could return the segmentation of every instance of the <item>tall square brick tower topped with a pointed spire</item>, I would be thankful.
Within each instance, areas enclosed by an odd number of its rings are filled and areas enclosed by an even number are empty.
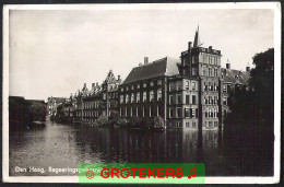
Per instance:
[[[218,90],[221,77],[221,50],[201,47],[199,27],[196,31],[193,46],[181,52],[181,75],[199,81],[199,127],[217,129]]]

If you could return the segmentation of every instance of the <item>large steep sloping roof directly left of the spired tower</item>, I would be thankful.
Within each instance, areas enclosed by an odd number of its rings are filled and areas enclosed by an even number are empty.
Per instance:
[[[158,78],[163,75],[170,77],[179,74],[177,67],[178,62],[180,62],[179,59],[165,57],[147,65],[135,67],[131,70],[122,84],[129,84],[132,82]]]

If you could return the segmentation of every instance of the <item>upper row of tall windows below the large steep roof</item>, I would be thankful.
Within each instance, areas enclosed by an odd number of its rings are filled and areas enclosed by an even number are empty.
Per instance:
[[[143,94],[142,95],[142,101],[143,102],[147,102],[147,92],[144,91],[142,94]],[[123,104],[123,103],[140,103],[140,100],[141,100],[140,92],[126,94],[126,95],[120,95],[120,104]],[[156,91],[156,100],[157,101],[162,100],[162,89],[158,89]],[[154,101],[155,101],[155,92],[154,91],[150,91],[149,102],[154,102]]]

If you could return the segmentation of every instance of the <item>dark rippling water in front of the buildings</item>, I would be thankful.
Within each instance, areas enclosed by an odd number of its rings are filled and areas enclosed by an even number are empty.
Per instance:
[[[78,168],[79,163],[204,163],[206,176],[272,175],[268,171],[272,171],[273,163],[246,160],[239,150],[224,145],[223,133],[109,129],[48,121],[44,128],[10,132],[9,173],[75,175],[56,174],[48,168]],[[256,161],[260,165],[256,166]],[[47,172],[19,172],[28,167]]]

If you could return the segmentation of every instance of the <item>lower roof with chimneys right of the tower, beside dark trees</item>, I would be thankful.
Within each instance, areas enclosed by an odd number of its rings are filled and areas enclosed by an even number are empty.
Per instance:
[[[233,69],[221,68],[224,75],[224,82],[248,84],[249,72]],[[236,79],[238,77],[238,79]]]

